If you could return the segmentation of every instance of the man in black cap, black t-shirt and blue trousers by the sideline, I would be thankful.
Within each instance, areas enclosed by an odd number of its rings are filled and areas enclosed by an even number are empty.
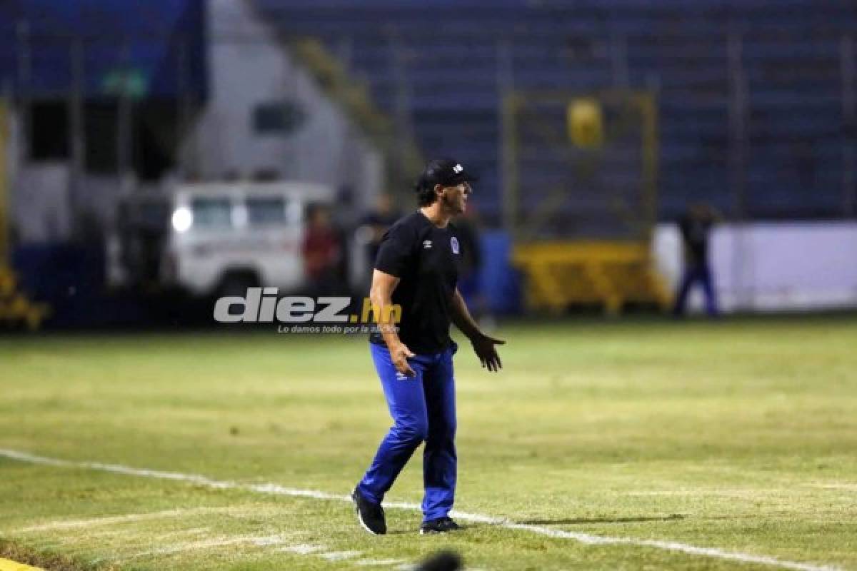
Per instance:
[[[419,209],[393,224],[381,241],[369,298],[378,332],[369,337],[393,427],[351,494],[357,519],[369,532],[387,532],[381,500],[425,441],[421,533],[449,532],[455,495],[455,384],[450,322],[470,339],[482,367],[500,369],[494,348],[503,341],[482,333],[458,292],[461,244],[450,218],[464,212],[472,189],[461,164],[430,161],[417,181]],[[385,322],[393,304],[399,327]]]

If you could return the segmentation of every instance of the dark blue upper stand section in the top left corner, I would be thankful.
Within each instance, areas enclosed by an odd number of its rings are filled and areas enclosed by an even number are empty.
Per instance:
[[[86,52],[84,95],[111,94],[131,65],[150,98],[206,93],[204,0],[9,0],[0,3],[0,87],[28,98],[64,97],[73,85],[73,40]],[[127,41],[127,45],[123,45]],[[21,66],[21,59],[27,66]],[[27,68],[22,73],[21,68]],[[180,73],[180,71],[182,73]],[[179,80],[179,77],[183,78]]]

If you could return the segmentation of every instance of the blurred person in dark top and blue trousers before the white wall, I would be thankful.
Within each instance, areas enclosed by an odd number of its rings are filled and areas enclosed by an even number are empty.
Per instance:
[[[717,211],[704,204],[688,206],[685,214],[679,219],[679,230],[685,252],[685,270],[678,292],[675,294],[673,308],[675,316],[684,315],[687,296],[696,283],[702,286],[705,294],[705,312],[709,317],[717,316],[714,277],[711,275],[708,259],[708,239],[711,228],[720,220],[721,217]]]

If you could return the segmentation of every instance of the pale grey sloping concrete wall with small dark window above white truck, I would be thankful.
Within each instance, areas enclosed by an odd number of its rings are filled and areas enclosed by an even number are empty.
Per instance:
[[[189,170],[276,170],[288,179],[350,185],[371,203],[383,184],[381,155],[329,101],[248,2],[211,0],[207,13],[209,99],[183,149]],[[296,102],[305,121],[291,134],[253,131],[256,105]]]

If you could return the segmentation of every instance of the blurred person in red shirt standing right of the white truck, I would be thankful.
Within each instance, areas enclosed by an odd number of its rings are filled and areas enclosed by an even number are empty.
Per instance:
[[[339,293],[342,285],[339,283],[342,242],[339,232],[333,227],[327,205],[310,207],[302,250],[308,294],[318,296]]]

